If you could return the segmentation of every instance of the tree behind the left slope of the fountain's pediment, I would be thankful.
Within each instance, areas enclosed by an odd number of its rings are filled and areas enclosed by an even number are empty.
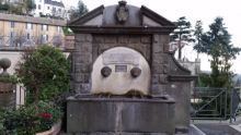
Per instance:
[[[74,20],[74,19],[77,19],[88,12],[89,12],[89,10],[88,10],[87,5],[81,0],[79,0],[77,8],[71,7],[71,9],[70,9],[70,21],[72,21],[72,20]]]

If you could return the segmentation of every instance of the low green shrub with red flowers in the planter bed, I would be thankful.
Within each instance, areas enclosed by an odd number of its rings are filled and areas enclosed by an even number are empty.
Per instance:
[[[34,112],[35,105],[25,105],[20,109],[0,108],[0,134],[33,135],[48,131],[62,118],[61,108],[51,101],[39,101],[39,113]]]

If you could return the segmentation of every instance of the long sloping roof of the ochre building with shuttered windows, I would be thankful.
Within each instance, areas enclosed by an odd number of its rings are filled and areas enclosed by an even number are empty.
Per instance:
[[[0,21],[15,21],[15,22],[22,22],[22,23],[66,26],[66,22],[62,20],[53,20],[53,19],[46,19],[46,17],[33,17],[33,16],[4,14],[4,13],[0,13]]]

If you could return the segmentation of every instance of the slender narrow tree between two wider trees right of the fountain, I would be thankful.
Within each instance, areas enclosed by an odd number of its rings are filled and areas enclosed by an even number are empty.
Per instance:
[[[203,34],[203,22],[202,21],[197,21],[196,25],[195,25],[195,30],[194,30],[194,36],[196,37],[197,44],[196,46],[199,47],[200,46],[200,37]],[[200,53],[199,50],[197,50],[197,59],[198,59],[198,54]]]

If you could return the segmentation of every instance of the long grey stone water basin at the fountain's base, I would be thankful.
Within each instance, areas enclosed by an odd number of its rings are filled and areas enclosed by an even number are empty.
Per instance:
[[[67,133],[174,133],[172,98],[100,95],[67,98]]]

